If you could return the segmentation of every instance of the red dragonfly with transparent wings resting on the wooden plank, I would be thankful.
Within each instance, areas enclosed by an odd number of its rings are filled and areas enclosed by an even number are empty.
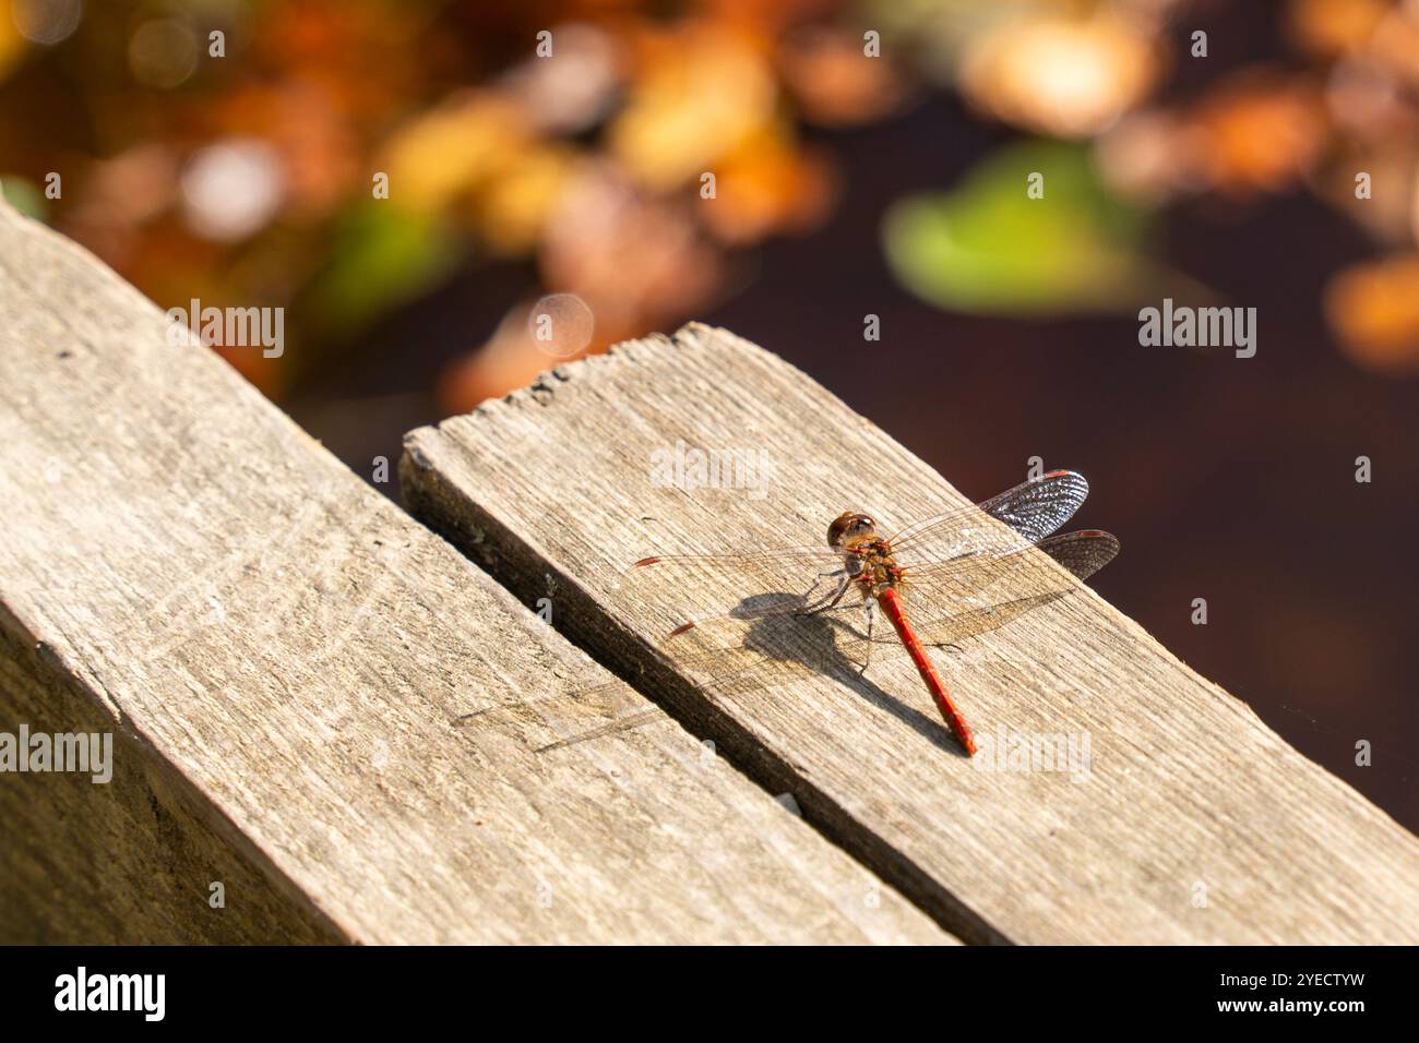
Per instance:
[[[1112,561],[1120,545],[1108,532],[1057,532],[1087,495],[1083,475],[1050,471],[890,536],[871,515],[844,511],[817,545],[653,555],[620,575],[616,605],[658,631],[658,650],[715,695],[866,674],[874,661],[908,657],[946,728],[972,755],[971,727],[928,650],[959,650],[1078,590]],[[664,719],[643,702],[620,715],[634,702],[619,688],[620,695],[617,685],[603,685],[572,697],[570,712],[558,707],[566,700],[539,704],[552,718],[562,712],[596,722],[541,749]]]

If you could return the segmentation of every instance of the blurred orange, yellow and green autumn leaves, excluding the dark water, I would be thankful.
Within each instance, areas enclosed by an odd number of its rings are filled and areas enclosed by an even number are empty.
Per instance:
[[[1205,289],[1149,254],[1156,210],[1301,187],[1376,240],[1325,288],[1337,345],[1413,372],[1415,4],[1297,0],[1279,26],[1288,65],[1159,99],[1179,62],[1210,58],[1168,35],[1206,7],[0,0],[0,177],[156,301],[291,308],[295,351],[227,352],[281,397],[470,263],[526,260],[538,289],[580,297],[586,351],[700,315],[741,288],[738,254],[840,204],[840,165],[812,129],[945,91],[1029,138],[893,207],[885,255],[912,292],[1000,315],[1132,309]],[[543,30],[553,60],[535,55]],[[1036,170],[1049,207],[1020,189]],[[1375,199],[1355,199],[1358,170]],[[446,410],[546,365],[532,299],[458,345],[436,387]]]

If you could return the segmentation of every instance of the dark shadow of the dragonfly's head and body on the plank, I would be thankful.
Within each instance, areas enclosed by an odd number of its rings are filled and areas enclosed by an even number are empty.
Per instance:
[[[871,678],[871,671],[880,668],[876,661],[868,664],[864,673],[863,663],[843,650],[841,646],[846,643],[866,647],[866,630],[860,624],[858,606],[816,614],[803,614],[805,607],[803,595],[776,592],[744,599],[729,614],[745,622],[741,647],[758,663],[715,677],[715,664],[707,661],[704,673],[712,678],[708,687],[725,692],[753,694],[793,678],[832,677],[874,707],[895,717],[937,748],[966,755],[941,718],[921,712]]]

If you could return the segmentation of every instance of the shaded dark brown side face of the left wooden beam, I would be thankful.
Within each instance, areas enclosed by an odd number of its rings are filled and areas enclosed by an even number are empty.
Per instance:
[[[82,694],[50,646],[0,627],[0,732],[102,734],[105,707]],[[114,734],[111,782],[92,775],[0,775],[0,939],[6,944],[302,942],[342,939],[258,851],[148,755]],[[223,903],[210,903],[220,883]],[[230,901],[226,897],[230,895]]]

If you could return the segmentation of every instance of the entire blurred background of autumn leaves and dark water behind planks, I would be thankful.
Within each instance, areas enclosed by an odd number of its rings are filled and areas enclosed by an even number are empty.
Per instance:
[[[1410,826],[1352,742],[1419,749],[1416,129],[1413,0],[0,0],[4,194],[165,308],[285,307],[216,349],[360,474],[721,322],[968,492],[1087,471],[1105,593]],[[1257,359],[1139,348],[1165,295]]]

